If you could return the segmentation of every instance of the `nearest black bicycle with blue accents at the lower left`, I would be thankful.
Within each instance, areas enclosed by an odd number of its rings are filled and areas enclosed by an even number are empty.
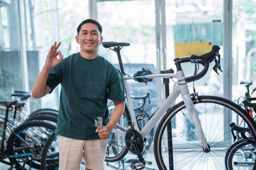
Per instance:
[[[1,129],[0,162],[9,165],[9,169],[31,169],[32,167],[40,169],[42,148],[54,132],[56,125],[44,120],[26,120],[17,127],[10,124],[9,111],[11,108],[17,110],[20,106],[17,103],[17,100],[0,101],[0,105],[6,108],[4,119],[0,120],[3,128]]]

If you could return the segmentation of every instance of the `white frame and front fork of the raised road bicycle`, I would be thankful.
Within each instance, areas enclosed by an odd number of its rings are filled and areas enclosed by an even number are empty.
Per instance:
[[[127,104],[129,108],[129,115],[131,115],[131,120],[132,120],[132,126],[136,131],[140,132],[142,138],[145,138],[148,132],[154,127],[154,125],[156,125],[157,121],[164,115],[164,113],[168,110],[168,108],[170,108],[172,103],[181,94],[182,99],[184,100],[185,106],[188,110],[189,116],[191,117],[193,124],[195,124],[196,131],[198,132],[198,136],[200,137],[202,145],[204,146],[204,150],[209,149],[209,146],[205,139],[204,132],[202,130],[202,126],[200,124],[200,120],[198,118],[198,115],[196,114],[195,106],[193,105],[193,102],[191,100],[188,84],[185,81],[184,71],[181,70],[181,71],[177,71],[177,73],[166,73],[166,74],[148,74],[145,76],[136,76],[136,77],[133,77],[133,76],[125,77],[125,75],[123,75],[123,78],[124,78],[125,94],[127,97]],[[147,124],[143,127],[143,129],[141,129],[141,131],[138,128],[138,124],[134,114],[134,109],[132,106],[131,94],[129,92],[128,83],[127,83],[127,80],[131,80],[134,78],[177,78],[177,82],[179,82],[175,87],[175,89],[173,90],[173,92],[164,100],[163,104],[161,104],[161,106],[157,108],[154,115],[152,115],[152,117],[148,120]],[[119,127],[116,127],[116,129],[120,129],[120,125],[118,126]],[[113,129],[112,132],[115,132],[121,136],[125,136],[125,132],[122,131],[122,129],[120,129],[121,131],[118,131],[116,129]]]

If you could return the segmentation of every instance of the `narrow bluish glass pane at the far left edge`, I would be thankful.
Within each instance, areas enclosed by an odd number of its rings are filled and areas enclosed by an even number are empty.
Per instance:
[[[0,5],[0,99],[23,89],[17,1]]]

